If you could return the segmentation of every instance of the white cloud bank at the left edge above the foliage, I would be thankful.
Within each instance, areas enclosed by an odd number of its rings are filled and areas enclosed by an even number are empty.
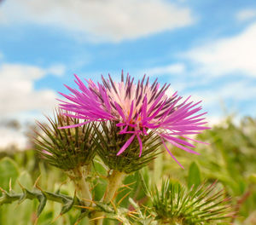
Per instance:
[[[61,76],[65,67],[52,65],[49,68],[22,64],[0,64],[0,118],[1,121],[17,119],[21,124],[42,120],[42,113],[52,112],[57,95],[51,89],[34,88],[36,80],[47,74]],[[1,124],[0,124],[1,125]],[[24,131],[24,130],[23,130]],[[23,131],[0,127],[0,148],[15,145],[26,147]]]

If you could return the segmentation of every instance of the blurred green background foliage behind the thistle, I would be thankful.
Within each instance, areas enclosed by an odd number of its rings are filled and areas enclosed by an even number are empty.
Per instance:
[[[162,178],[165,177],[170,177],[173,182],[182,182],[188,187],[197,187],[202,181],[212,183],[218,180],[218,186],[223,187],[227,196],[231,197],[234,211],[237,211],[234,224],[256,224],[256,119],[241,118],[241,121],[236,122],[234,118],[227,118],[221,124],[215,125],[212,130],[203,132],[198,139],[209,143],[197,145],[196,149],[201,153],[200,156],[172,147],[172,152],[185,170],[166,153],[160,154],[153,163],[143,168],[141,172],[148,187],[154,183],[160,186]],[[94,196],[101,199],[107,183],[101,177],[106,175],[106,169],[100,159],[94,159],[93,170],[96,173],[93,178]],[[0,187],[9,189],[11,177],[11,187],[20,192],[17,181],[25,187],[32,188],[38,176],[39,187],[51,192],[61,190],[61,193],[73,196],[73,183],[68,181],[61,170],[39,159],[36,151],[0,153]],[[145,197],[138,172],[127,176],[124,184],[126,188],[121,187],[117,197],[121,206],[132,209],[134,205],[129,198],[134,199],[138,205],[147,205],[148,199]],[[0,208],[0,224],[33,224],[37,206],[36,200],[26,200],[21,205],[3,205]],[[38,224],[74,224],[79,217],[79,211],[72,210],[53,222],[60,211],[60,204],[47,203]],[[86,224],[86,219],[79,224]],[[118,223],[107,221],[105,224]]]

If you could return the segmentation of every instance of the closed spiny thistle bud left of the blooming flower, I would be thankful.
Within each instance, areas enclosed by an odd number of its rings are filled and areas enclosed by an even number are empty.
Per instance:
[[[34,140],[44,159],[62,170],[90,164],[96,154],[92,124],[84,124],[75,130],[60,130],[59,126],[79,124],[79,119],[69,118],[61,111],[56,111],[55,118],[47,119],[49,124],[38,123],[41,131]]]

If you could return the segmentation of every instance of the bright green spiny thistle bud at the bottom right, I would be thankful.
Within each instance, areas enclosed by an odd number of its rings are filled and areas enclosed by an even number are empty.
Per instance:
[[[224,190],[217,190],[216,182],[189,190],[178,182],[165,180],[160,190],[150,193],[152,213],[159,224],[230,224],[234,210]]]

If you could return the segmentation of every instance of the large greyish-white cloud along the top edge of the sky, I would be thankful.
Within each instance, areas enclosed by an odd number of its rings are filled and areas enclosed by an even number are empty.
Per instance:
[[[189,8],[165,0],[9,0],[0,14],[9,23],[57,26],[93,41],[113,42],[194,22]]]

